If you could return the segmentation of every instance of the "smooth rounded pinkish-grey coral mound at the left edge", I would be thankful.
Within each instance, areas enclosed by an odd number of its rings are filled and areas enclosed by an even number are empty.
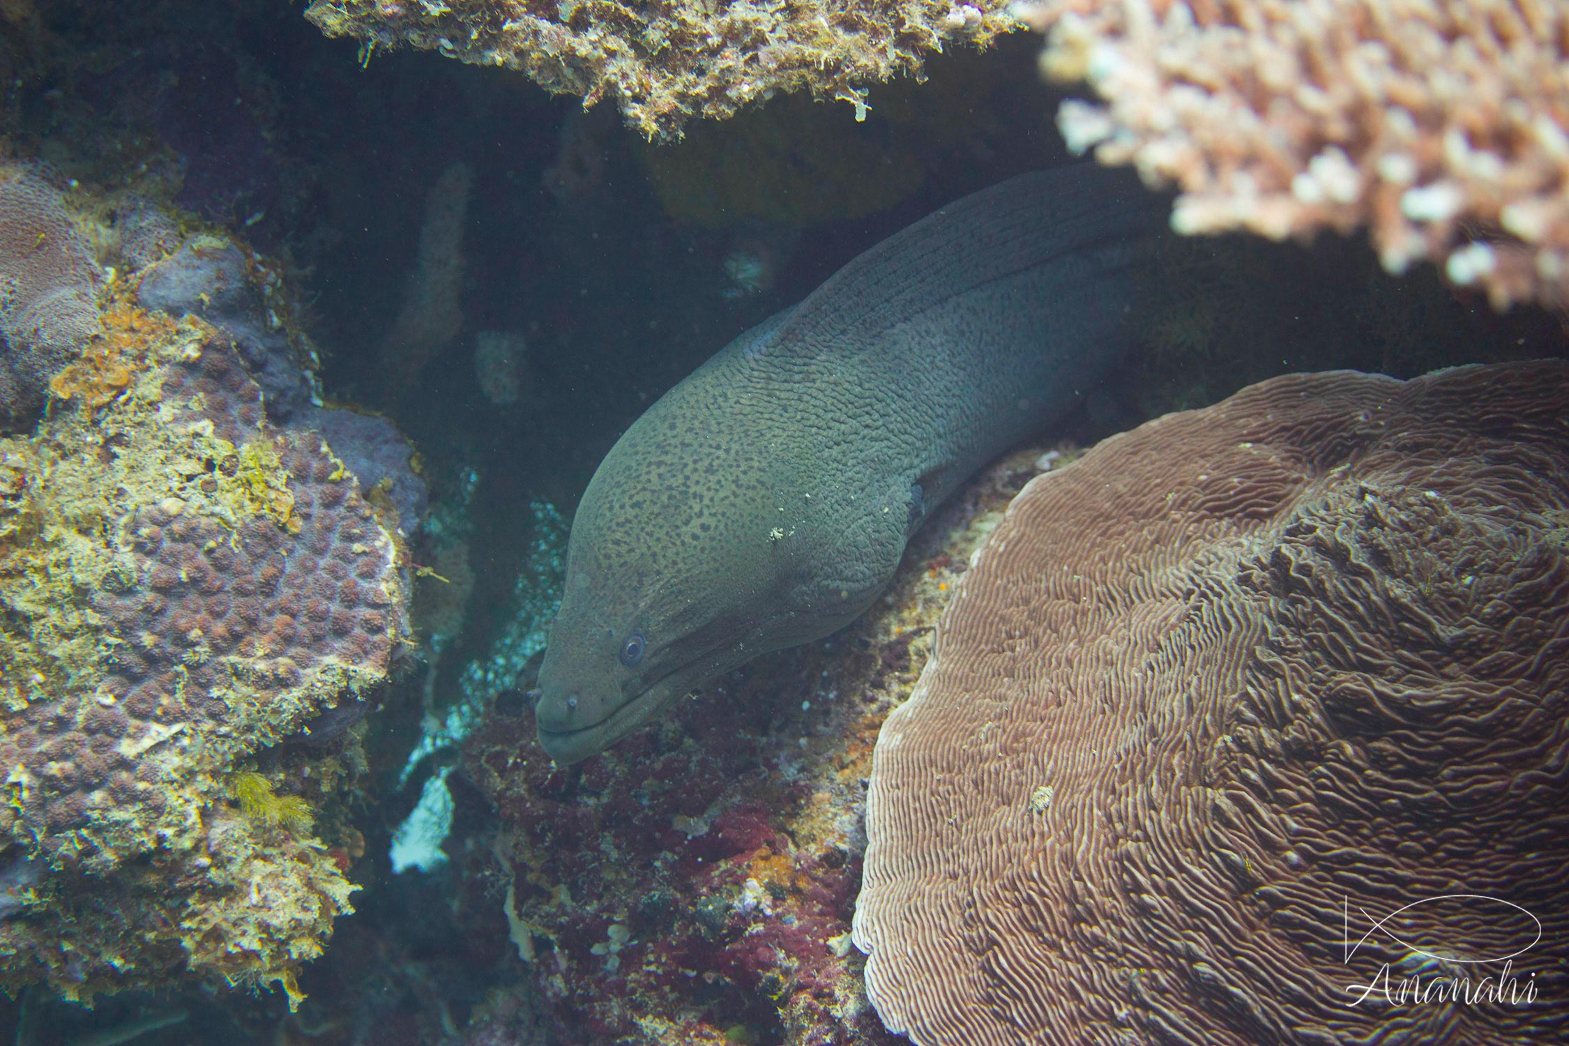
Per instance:
[[[33,427],[49,380],[97,331],[97,284],[60,191],[0,163],[0,433]]]

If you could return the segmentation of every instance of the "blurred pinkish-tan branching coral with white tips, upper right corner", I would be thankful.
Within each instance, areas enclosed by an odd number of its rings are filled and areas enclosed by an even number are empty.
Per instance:
[[[1180,232],[1367,224],[1495,307],[1569,307],[1569,11],[1528,0],[1039,0],[1076,151],[1181,188]]]

